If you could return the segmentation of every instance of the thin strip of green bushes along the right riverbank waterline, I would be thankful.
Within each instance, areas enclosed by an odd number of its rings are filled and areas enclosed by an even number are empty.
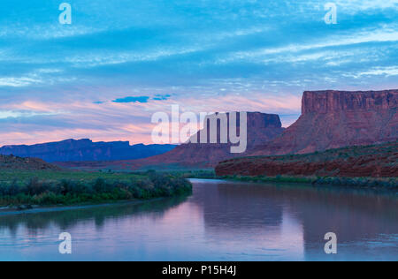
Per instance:
[[[259,182],[259,183],[297,183],[311,185],[339,185],[364,188],[398,189],[396,177],[246,177],[246,176],[222,176],[220,179]]]

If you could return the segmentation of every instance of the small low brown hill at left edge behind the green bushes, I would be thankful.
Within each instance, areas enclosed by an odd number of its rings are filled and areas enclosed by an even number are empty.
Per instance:
[[[0,155],[0,170],[62,170],[61,168],[36,158],[21,158],[13,155]]]

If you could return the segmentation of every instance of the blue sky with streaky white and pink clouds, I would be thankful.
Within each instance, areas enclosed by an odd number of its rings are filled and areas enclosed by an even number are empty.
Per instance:
[[[2,0],[0,146],[150,144],[172,104],[288,126],[305,90],[398,88],[397,61],[398,0]]]

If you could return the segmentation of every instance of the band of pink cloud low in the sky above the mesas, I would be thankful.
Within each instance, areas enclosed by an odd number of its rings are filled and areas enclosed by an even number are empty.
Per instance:
[[[129,140],[131,143],[152,143],[151,132],[155,124],[150,123],[153,113],[163,111],[171,114],[172,104],[180,105],[180,112],[224,112],[260,111],[265,113],[298,114],[301,98],[294,94],[270,96],[266,94],[239,94],[175,97],[172,100],[150,101],[148,103],[101,104],[90,101],[25,102],[0,105],[2,109],[29,110],[34,112],[57,112],[54,121],[63,124],[47,125],[42,118],[36,123],[12,124],[0,132],[0,145],[34,144],[62,139],[89,138],[93,140]],[[284,119],[282,118],[282,121]],[[295,119],[283,121],[291,124]]]

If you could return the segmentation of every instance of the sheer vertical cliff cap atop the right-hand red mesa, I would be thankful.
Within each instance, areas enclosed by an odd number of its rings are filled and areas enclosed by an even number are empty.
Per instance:
[[[305,91],[302,115],[349,110],[381,111],[398,107],[398,89],[383,91]]]

